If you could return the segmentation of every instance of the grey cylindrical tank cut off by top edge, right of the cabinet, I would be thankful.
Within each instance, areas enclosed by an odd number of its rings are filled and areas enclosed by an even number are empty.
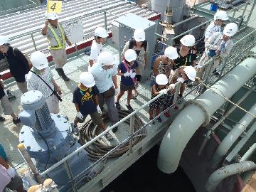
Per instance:
[[[168,7],[173,12],[171,22],[178,23],[182,20],[184,0],[151,0],[151,8],[161,13],[162,20],[165,20],[165,11]]]

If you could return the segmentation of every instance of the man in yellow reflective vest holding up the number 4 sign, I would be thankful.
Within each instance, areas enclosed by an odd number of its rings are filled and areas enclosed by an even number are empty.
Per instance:
[[[63,65],[67,63],[67,53],[65,50],[65,42],[68,46],[72,43],[65,35],[63,26],[58,22],[58,15],[55,13],[46,13],[46,25],[42,28],[42,35],[46,36],[50,44],[50,54],[53,56],[55,70],[63,80],[68,81],[69,78],[65,75]]]

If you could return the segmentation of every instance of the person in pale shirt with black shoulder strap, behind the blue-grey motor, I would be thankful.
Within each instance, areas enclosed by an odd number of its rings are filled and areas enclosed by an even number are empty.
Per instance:
[[[59,100],[53,90],[61,95],[60,87],[53,79],[48,66],[46,55],[40,51],[31,54],[32,71],[28,73],[28,90],[38,90],[46,97],[46,104],[50,113],[60,112]],[[51,88],[51,89],[50,89]]]

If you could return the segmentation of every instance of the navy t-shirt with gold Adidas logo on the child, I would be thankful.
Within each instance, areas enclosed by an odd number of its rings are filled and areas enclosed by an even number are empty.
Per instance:
[[[99,90],[96,85],[85,90],[76,87],[73,92],[73,103],[77,103],[82,115],[92,114],[97,111],[97,107],[93,102],[93,96],[98,95]]]

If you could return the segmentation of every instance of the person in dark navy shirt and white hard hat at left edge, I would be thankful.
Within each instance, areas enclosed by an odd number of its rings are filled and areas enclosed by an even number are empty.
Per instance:
[[[30,65],[25,55],[21,53],[18,48],[10,46],[9,38],[7,36],[0,36],[0,60],[6,58],[9,63],[11,75],[17,82],[18,89],[22,93],[27,92],[25,75],[30,70]]]

